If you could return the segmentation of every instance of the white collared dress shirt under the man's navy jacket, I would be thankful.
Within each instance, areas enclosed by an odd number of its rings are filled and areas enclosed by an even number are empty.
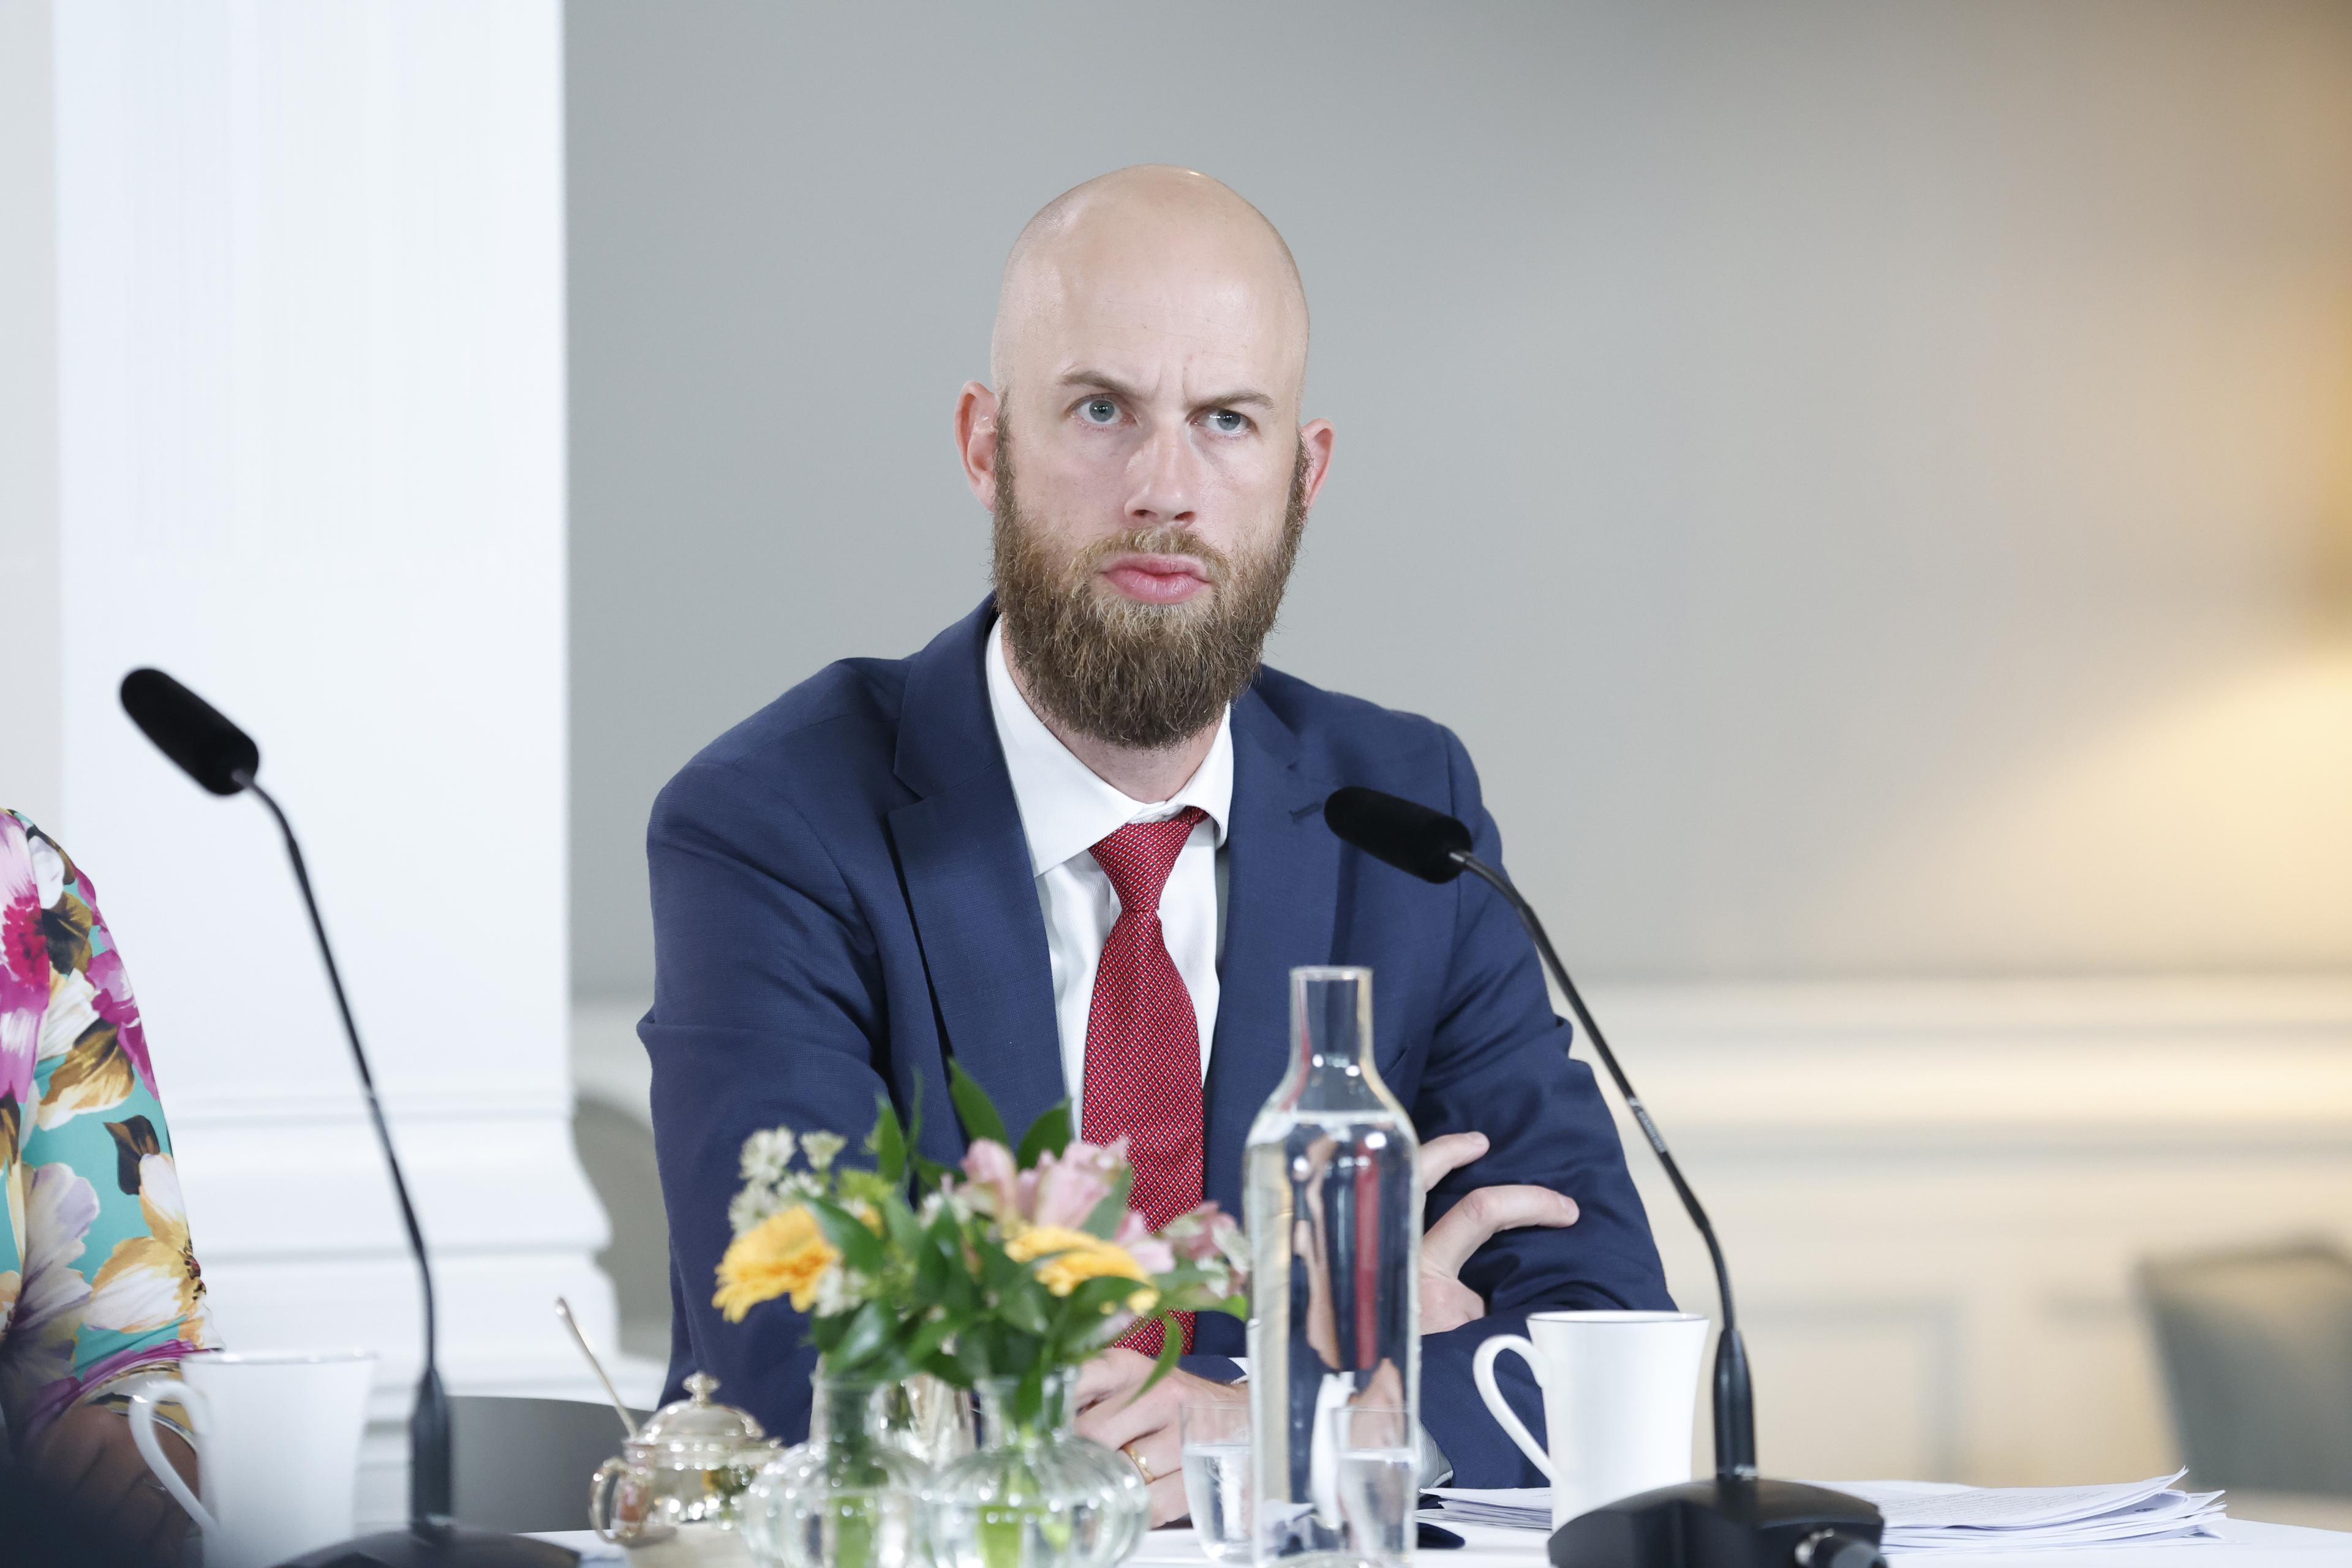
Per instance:
[[[1094,846],[1127,823],[1164,823],[1185,806],[1207,820],[1176,853],[1176,870],[1160,891],[1160,933],[1192,997],[1200,1025],[1200,1072],[1209,1074],[1216,1034],[1216,961],[1225,945],[1225,823],[1232,816],[1232,710],[1216,722],[1209,757],[1176,795],[1141,804],[1070,755],[1028,705],[1004,665],[1004,621],[988,632],[988,712],[1004,748],[1028,839],[1044,945],[1054,959],[1054,1023],[1061,1032],[1061,1081],[1070,1091],[1070,1124],[1084,1128],[1087,1013],[1094,1009],[1094,969],[1120,917],[1120,896],[1094,860]]]

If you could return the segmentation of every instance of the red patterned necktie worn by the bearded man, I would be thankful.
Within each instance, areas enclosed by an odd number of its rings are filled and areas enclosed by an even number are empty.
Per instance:
[[[1087,1143],[1127,1138],[1136,1164],[1127,1206],[1152,1229],[1200,1206],[1202,1194],[1200,1020],[1160,936],[1160,891],[1197,820],[1200,806],[1185,806],[1164,823],[1129,823],[1094,846],[1120,896],[1120,919],[1094,969],[1080,1131]],[[1192,1314],[1176,1321],[1183,1347],[1192,1349]],[[1143,1324],[1117,1342],[1157,1356],[1160,1338],[1160,1324]]]

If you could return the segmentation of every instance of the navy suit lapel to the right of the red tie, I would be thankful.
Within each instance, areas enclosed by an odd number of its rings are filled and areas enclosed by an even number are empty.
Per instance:
[[[1329,964],[1341,844],[1322,820],[1331,783],[1305,773],[1298,738],[1256,689],[1232,705],[1232,823],[1225,832],[1225,957],[1207,1084],[1207,1190],[1242,1213],[1242,1150],[1289,1065],[1291,969]]]

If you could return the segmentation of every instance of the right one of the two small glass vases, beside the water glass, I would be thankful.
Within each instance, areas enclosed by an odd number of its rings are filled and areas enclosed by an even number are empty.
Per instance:
[[[978,1450],[931,1479],[924,1526],[936,1568],[1112,1568],[1143,1542],[1143,1476],[1077,1436],[1077,1373],[1044,1380],[1023,1418],[1014,1378],[978,1385]]]

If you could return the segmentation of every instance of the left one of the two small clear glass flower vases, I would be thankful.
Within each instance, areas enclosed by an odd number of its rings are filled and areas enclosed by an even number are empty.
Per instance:
[[[818,1373],[811,1387],[809,1441],[760,1467],[743,1493],[743,1544],[764,1568],[920,1566],[929,1472],[887,1427],[891,1385]]]

